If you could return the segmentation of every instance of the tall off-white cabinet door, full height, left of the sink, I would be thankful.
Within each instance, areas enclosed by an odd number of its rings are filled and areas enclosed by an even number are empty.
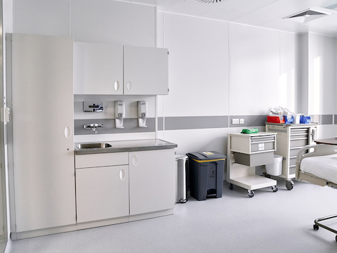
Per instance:
[[[73,39],[12,39],[16,232],[74,224]]]

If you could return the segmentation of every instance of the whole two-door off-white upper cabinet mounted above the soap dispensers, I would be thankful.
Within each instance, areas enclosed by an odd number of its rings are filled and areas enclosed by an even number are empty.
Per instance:
[[[75,42],[74,94],[167,95],[168,50]]]

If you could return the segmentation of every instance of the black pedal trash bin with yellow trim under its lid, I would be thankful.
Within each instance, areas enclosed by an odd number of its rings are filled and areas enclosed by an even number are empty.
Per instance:
[[[197,200],[222,197],[226,156],[216,151],[188,153],[190,195]]]

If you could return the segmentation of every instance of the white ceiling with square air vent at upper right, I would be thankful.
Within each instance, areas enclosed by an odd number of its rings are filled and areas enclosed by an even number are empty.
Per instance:
[[[158,11],[223,20],[244,25],[265,27],[298,34],[314,32],[337,37],[337,11],[322,8],[329,0],[221,0],[204,4],[197,0],[119,0],[157,6]],[[283,19],[286,16],[315,8],[331,15],[305,23]]]

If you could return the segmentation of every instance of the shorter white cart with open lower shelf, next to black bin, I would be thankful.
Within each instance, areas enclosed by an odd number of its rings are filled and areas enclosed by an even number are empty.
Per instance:
[[[274,162],[276,150],[275,133],[259,132],[257,134],[227,134],[227,182],[230,190],[233,185],[248,190],[249,197],[256,189],[272,187],[277,192],[277,181],[256,175],[256,166]]]

